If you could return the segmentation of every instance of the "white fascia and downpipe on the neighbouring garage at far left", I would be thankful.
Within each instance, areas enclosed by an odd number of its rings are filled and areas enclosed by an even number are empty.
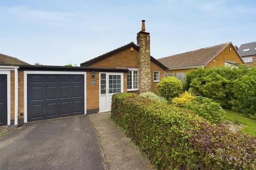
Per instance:
[[[1,70],[14,70],[14,126],[18,125],[18,106],[19,106],[19,75],[18,75],[18,69],[19,66],[0,66]]]

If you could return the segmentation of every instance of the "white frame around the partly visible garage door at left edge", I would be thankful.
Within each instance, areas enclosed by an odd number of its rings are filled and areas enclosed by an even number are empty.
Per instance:
[[[0,74],[7,75],[7,125],[11,125],[11,71],[0,70]]]

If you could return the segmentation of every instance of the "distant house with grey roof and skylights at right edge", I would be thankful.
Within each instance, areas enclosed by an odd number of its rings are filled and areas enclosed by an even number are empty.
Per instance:
[[[238,54],[242,57],[244,63],[252,67],[256,63],[256,42],[242,44],[238,48]]]

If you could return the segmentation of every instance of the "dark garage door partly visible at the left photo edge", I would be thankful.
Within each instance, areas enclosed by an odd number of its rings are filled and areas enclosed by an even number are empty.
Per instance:
[[[7,125],[7,75],[0,74],[0,126]]]

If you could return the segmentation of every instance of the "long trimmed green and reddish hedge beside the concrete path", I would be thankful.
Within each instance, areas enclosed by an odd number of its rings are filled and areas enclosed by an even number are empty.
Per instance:
[[[135,94],[112,97],[111,118],[140,147],[158,169],[233,169],[256,167],[256,140],[204,118]],[[233,146],[235,145],[235,146]],[[226,149],[227,146],[233,150]],[[242,148],[243,151],[236,148]],[[221,156],[244,161],[220,162]]]

